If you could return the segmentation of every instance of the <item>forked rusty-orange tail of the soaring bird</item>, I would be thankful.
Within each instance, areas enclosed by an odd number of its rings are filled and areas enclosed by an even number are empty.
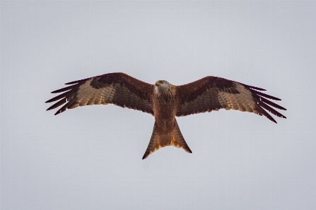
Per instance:
[[[151,135],[151,140],[149,141],[147,150],[144,154],[143,159],[151,155],[151,153],[159,150],[161,147],[175,146],[184,149],[186,152],[192,153],[189,146],[185,142],[182,133],[179,129],[177,121],[175,120],[175,129],[167,134],[157,133],[156,123],[153,126],[153,134]]]

